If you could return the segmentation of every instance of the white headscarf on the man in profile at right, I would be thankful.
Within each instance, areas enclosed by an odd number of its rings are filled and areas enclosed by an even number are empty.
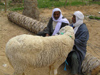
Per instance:
[[[73,26],[75,27],[74,28],[74,33],[76,33],[78,28],[79,28],[79,26],[81,24],[83,24],[84,15],[80,11],[75,11],[73,15],[76,16],[76,23],[73,23]]]

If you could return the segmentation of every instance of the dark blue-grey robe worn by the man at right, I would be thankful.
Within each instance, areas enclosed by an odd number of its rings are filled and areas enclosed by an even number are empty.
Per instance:
[[[89,39],[89,31],[86,25],[83,23],[82,25],[80,25],[80,27],[78,28],[75,34],[75,40],[74,40],[75,45],[73,46],[73,51],[69,53],[70,55],[72,54],[72,52],[76,52],[78,56],[78,60],[79,60],[78,61],[79,62],[79,73],[81,70],[82,61],[84,60],[85,55],[86,55],[86,46],[87,46],[88,39]]]

